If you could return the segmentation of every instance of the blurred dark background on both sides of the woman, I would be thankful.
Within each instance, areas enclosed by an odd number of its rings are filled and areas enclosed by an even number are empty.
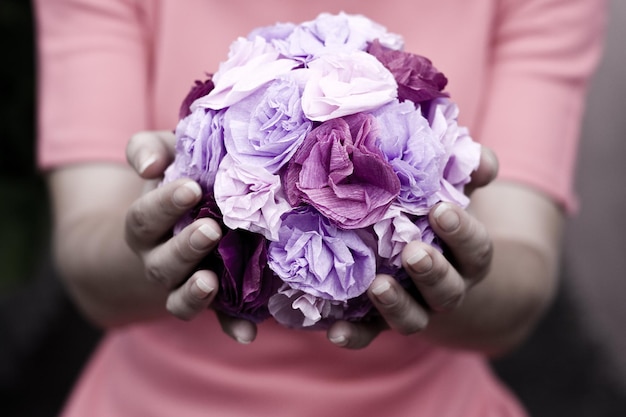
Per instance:
[[[494,362],[534,417],[626,415],[626,2],[610,2],[589,92],[562,288],[536,334]],[[35,168],[30,2],[0,1],[0,415],[54,416],[100,337],[52,272]]]

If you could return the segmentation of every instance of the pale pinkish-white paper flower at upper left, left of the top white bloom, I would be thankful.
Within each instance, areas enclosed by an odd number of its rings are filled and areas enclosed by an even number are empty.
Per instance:
[[[252,41],[239,38],[233,43],[228,60],[213,76],[215,88],[197,99],[191,110],[196,107],[220,110],[231,106],[298,65],[291,59],[280,58],[279,52],[261,37]]]

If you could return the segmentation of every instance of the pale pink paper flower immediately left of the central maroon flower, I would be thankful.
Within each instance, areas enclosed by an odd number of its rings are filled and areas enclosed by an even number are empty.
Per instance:
[[[291,210],[280,177],[254,165],[238,164],[230,155],[222,160],[213,188],[222,220],[231,229],[278,239],[280,217]]]

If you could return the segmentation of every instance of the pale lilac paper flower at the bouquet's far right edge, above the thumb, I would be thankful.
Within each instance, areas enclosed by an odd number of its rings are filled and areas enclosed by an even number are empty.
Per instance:
[[[467,207],[469,198],[463,186],[480,164],[480,144],[474,142],[465,127],[457,123],[458,106],[448,98],[433,100],[429,106],[428,122],[446,150],[442,175],[440,201],[448,201]]]

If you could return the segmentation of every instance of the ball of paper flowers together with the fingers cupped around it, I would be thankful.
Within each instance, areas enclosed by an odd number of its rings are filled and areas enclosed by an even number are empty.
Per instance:
[[[457,125],[445,76],[401,45],[362,16],[258,29],[196,83],[175,139],[133,139],[131,164],[165,181],[127,240],[174,315],[211,305],[242,342],[271,315],[362,347],[423,330],[485,277],[491,241],[463,191],[495,158]]]

